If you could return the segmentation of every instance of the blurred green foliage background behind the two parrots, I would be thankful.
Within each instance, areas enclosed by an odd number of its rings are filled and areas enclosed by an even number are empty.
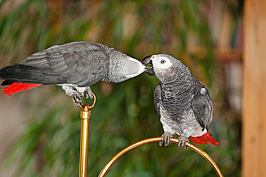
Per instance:
[[[141,60],[181,60],[213,98],[209,132],[199,145],[224,176],[240,176],[243,0],[0,2],[0,67],[71,41],[93,41]],[[92,85],[88,176],[127,145],[163,134],[154,108],[156,77]],[[2,87],[3,89],[3,87]],[[91,100],[85,102],[91,103]],[[80,108],[59,86],[0,95],[0,176],[78,176]],[[199,154],[152,143],[120,158],[106,176],[215,176]]]

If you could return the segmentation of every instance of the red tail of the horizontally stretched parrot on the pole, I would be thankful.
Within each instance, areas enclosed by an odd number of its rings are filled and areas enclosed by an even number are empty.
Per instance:
[[[26,91],[39,85],[42,85],[42,84],[14,82],[11,85],[7,86],[5,89],[3,89],[3,94],[5,94],[7,97],[10,97],[11,95],[15,93]]]

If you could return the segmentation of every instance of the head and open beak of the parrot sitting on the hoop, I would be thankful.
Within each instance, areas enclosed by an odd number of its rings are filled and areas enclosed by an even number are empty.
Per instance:
[[[141,60],[142,64],[151,64],[145,71],[148,75],[155,75],[162,83],[170,83],[185,75],[191,75],[189,69],[179,60],[166,54],[151,55]]]

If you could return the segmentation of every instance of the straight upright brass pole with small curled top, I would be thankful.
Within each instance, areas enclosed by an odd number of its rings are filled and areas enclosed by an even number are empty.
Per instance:
[[[89,128],[91,118],[91,108],[95,105],[96,97],[93,94],[94,102],[92,106],[88,104],[81,107],[81,149],[80,149],[80,177],[87,177],[88,153],[89,153]]]

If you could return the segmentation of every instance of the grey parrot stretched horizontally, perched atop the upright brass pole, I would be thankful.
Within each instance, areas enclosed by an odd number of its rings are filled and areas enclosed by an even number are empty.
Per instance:
[[[92,98],[90,85],[99,80],[122,82],[146,70],[140,61],[113,48],[93,42],[71,42],[53,46],[0,70],[3,94],[32,89],[42,84],[56,84],[79,105],[85,96]]]

